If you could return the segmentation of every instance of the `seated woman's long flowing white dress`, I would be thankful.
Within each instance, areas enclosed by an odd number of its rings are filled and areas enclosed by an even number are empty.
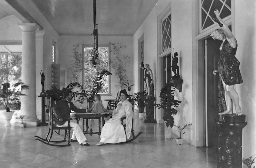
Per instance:
[[[121,102],[119,102],[121,103]],[[116,108],[113,111],[113,116],[103,126],[100,135],[100,142],[103,143],[120,143],[125,142],[131,136],[132,129],[132,104],[125,100],[122,102],[122,107]],[[124,127],[121,124],[121,117],[126,115],[126,136]]]

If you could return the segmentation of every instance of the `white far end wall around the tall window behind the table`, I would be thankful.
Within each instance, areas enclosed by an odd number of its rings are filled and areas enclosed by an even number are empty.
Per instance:
[[[59,43],[59,57],[57,62],[60,63],[61,67],[65,67],[66,70],[71,66],[70,60],[73,56],[73,45],[77,44],[86,44],[91,45],[93,44],[94,39],[93,36],[60,36],[60,43]],[[126,46],[126,48],[122,48],[120,54],[127,55],[130,57],[130,65],[126,66],[125,69],[127,70],[125,73],[127,74],[128,80],[130,84],[133,84],[133,48],[132,48],[132,36],[98,36],[98,43],[99,45],[108,45],[108,43],[115,43]],[[79,53],[82,53],[82,45],[80,45]],[[115,58],[115,55],[111,53],[111,58]],[[111,68],[110,72],[112,75],[111,77],[111,96],[101,96],[102,103],[104,107],[107,107],[106,101],[104,99],[109,98],[116,98],[116,94],[120,91],[120,88],[116,88],[117,79],[115,77],[115,70]],[[70,83],[70,77],[72,77],[71,73],[67,71],[68,76],[68,83]],[[82,77],[81,77],[82,78]],[[126,89],[127,93],[128,90]],[[132,90],[131,90],[132,91]]]

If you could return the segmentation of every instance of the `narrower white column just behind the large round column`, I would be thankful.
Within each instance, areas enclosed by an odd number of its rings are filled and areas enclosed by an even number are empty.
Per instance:
[[[42,116],[42,98],[38,97],[42,91],[41,70],[43,70],[43,36],[44,30],[36,30],[36,114]],[[44,72],[44,70],[42,71]],[[45,74],[45,72],[44,72]],[[40,117],[39,117],[40,118]]]

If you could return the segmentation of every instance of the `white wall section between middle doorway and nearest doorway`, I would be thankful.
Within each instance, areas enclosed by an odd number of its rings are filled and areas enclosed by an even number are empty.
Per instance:
[[[172,48],[178,55],[180,79],[183,80],[182,92],[175,90],[175,99],[182,101],[174,115],[174,125],[192,122],[192,2],[187,0],[172,1]],[[171,65],[170,65],[171,66]],[[193,124],[193,123],[192,123]],[[178,135],[176,127],[172,133]],[[192,143],[192,128],[182,138]]]

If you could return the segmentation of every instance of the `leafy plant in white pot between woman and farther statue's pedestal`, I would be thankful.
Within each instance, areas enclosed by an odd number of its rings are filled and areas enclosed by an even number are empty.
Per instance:
[[[145,108],[145,100],[147,96],[147,92],[141,91],[135,94],[132,94],[135,101],[135,106],[139,108],[139,119],[145,119],[146,113],[144,111]]]

